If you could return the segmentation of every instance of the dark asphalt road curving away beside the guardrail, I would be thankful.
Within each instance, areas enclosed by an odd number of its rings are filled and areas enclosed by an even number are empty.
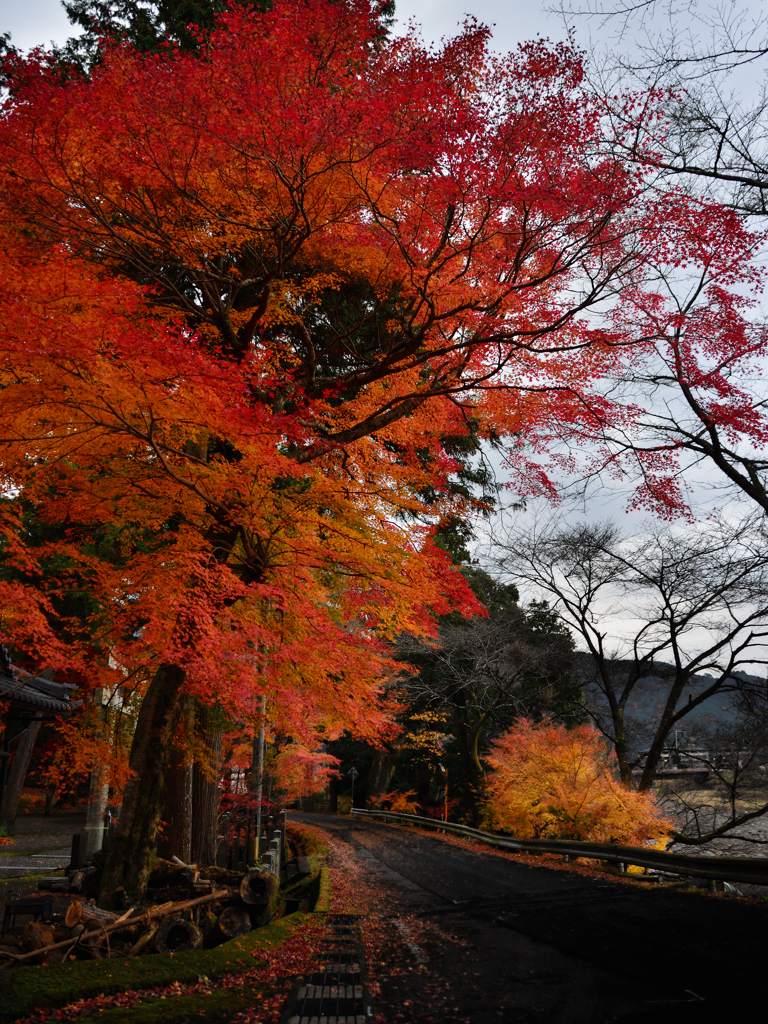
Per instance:
[[[396,927],[415,914],[436,936],[412,952],[451,992],[451,1012],[432,1016],[416,974],[385,986],[388,1021],[765,1019],[768,904],[527,866],[378,822],[292,817],[353,851]]]

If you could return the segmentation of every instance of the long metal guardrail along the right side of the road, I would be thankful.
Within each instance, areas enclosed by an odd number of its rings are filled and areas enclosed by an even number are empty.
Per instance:
[[[602,860],[626,868],[628,864],[650,867],[665,874],[690,874],[716,882],[741,882],[748,885],[768,886],[768,858],[758,857],[707,857],[686,853],[665,853],[636,846],[618,846],[613,843],[577,843],[559,839],[514,839],[497,836],[481,828],[438,821],[418,814],[398,814],[392,811],[369,811],[353,807],[351,813],[359,817],[382,818],[402,824],[426,825],[440,831],[466,836],[488,846],[514,853],[554,853],[563,857],[585,857]]]

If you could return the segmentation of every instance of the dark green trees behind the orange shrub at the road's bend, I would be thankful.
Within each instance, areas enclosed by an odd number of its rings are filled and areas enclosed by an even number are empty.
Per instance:
[[[400,654],[416,672],[406,682],[401,733],[384,752],[389,791],[415,793],[423,813],[441,811],[447,770],[450,816],[477,821],[482,803],[482,757],[492,740],[520,717],[573,724],[583,718],[573,639],[546,602],[518,604],[517,588],[477,565],[462,566],[487,617],[454,613],[439,623],[437,646],[403,637]],[[347,737],[329,744],[344,773],[348,794],[352,764],[360,772],[357,794],[369,783],[374,752]],[[382,755],[378,755],[381,760]],[[393,770],[393,775],[391,770]],[[371,795],[372,786],[368,784]],[[379,792],[383,795],[383,791]]]

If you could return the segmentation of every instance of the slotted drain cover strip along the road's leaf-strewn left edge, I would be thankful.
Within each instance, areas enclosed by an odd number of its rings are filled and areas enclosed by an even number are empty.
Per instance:
[[[294,988],[281,1024],[371,1024],[358,918],[325,918],[327,938],[316,956],[317,969]]]

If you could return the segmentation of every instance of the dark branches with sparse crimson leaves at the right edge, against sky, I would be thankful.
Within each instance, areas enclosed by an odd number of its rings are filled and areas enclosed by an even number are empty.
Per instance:
[[[736,495],[768,515],[768,394],[759,367],[766,326],[749,323],[734,308],[722,322],[741,332],[739,343],[729,349],[713,339],[708,349],[687,335],[689,322],[694,334],[697,318],[709,315],[697,306],[699,295],[682,297],[676,291],[670,283],[669,319],[678,317],[677,323],[667,334],[659,331],[642,360],[628,359],[615,371],[613,397],[635,412],[595,425],[593,466],[598,473],[621,467],[650,496],[664,496],[669,481],[683,495],[700,473],[711,488]]]

